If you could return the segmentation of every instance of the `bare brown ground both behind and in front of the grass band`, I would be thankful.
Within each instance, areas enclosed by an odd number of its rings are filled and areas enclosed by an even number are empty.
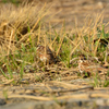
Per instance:
[[[71,31],[75,27],[83,27],[85,24],[85,17],[89,15],[95,20],[97,14],[102,11],[104,23],[109,22],[109,0],[35,0],[39,5],[51,3],[51,13],[58,12],[52,19],[50,19],[51,25],[55,28],[60,29],[63,21],[65,20],[66,31]],[[109,26],[106,26],[106,31]],[[44,81],[39,83],[34,80],[38,73],[25,74],[24,80],[19,80],[17,74],[15,80],[4,82],[0,85],[0,109],[109,109],[109,87],[94,87],[94,78],[81,78],[76,72],[71,70],[63,74],[61,82]],[[47,73],[47,72],[46,72]],[[49,76],[56,76],[59,80],[59,74],[48,74]],[[40,75],[40,73],[39,73]],[[41,75],[43,80],[46,78],[46,74]],[[69,77],[66,77],[69,76]],[[105,77],[105,74],[101,74]],[[3,78],[3,76],[1,76]],[[50,77],[49,77],[50,78]],[[12,85],[15,81],[20,83],[19,86]],[[93,85],[90,84],[93,83]],[[7,95],[8,96],[7,98]]]

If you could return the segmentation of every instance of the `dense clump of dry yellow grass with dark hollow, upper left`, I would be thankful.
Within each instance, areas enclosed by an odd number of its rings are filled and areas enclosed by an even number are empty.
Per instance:
[[[47,14],[47,5],[5,4],[0,8],[0,53],[9,56],[21,48],[21,45],[37,37],[38,23]]]

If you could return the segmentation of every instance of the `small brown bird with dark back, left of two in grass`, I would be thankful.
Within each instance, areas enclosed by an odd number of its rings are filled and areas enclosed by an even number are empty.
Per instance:
[[[51,64],[57,62],[52,50],[48,46],[45,47],[38,45],[36,53],[37,53],[37,59],[39,59],[43,62],[46,62],[46,64]]]

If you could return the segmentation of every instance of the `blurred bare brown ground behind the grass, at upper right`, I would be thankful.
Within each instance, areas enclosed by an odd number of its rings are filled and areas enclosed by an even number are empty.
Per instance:
[[[104,16],[104,23],[109,22],[109,1],[108,0],[35,0],[35,2],[44,5],[45,2],[52,4],[50,12],[57,13],[50,22],[56,25],[56,28],[60,28],[65,20],[66,31],[75,27],[83,27],[88,19],[94,21],[97,19],[97,14]],[[109,26],[106,26],[106,31]]]

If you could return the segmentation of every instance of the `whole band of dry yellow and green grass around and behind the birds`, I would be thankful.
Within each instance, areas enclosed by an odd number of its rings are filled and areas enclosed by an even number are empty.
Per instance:
[[[46,64],[43,65],[45,69],[39,66],[39,60],[36,59],[38,45],[48,46],[59,58],[61,68],[77,68],[81,56],[94,62],[94,65],[109,63],[109,33],[105,32],[101,14],[95,21],[86,17],[85,25],[81,29],[76,28],[73,34],[65,32],[64,22],[60,31],[56,31],[50,23],[47,26],[45,17],[49,17],[47,4],[40,9],[33,3],[0,7],[0,71],[3,76],[13,78],[13,72],[19,72],[23,78],[25,66],[34,63],[36,72],[47,72]],[[76,73],[80,73],[78,69]],[[40,77],[36,76],[36,80],[40,81]],[[97,75],[94,81],[94,85],[99,86]],[[108,85],[106,81],[104,86]]]

